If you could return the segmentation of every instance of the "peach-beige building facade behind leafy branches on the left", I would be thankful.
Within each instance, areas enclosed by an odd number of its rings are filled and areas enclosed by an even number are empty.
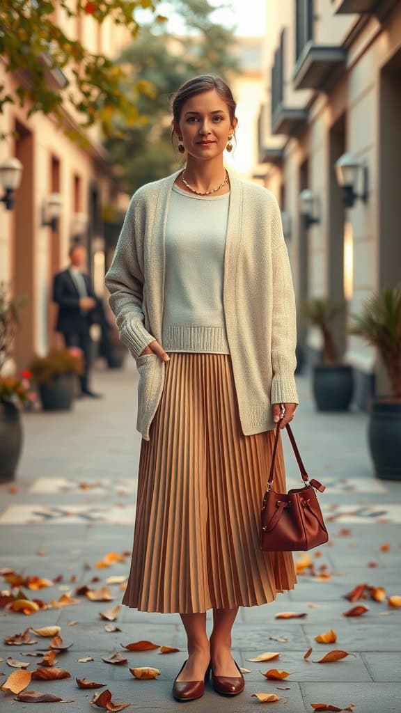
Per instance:
[[[90,16],[67,19],[59,10],[56,24],[71,38],[84,38],[85,46],[96,53],[116,56],[128,41],[122,26],[111,21],[99,26]],[[56,91],[62,90],[63,73],[49,73],[47,79]],[[22,73],[6,73],[0,57],[0,82],[7,93],[16,96],[20,84],[27,81]],[[26,115],[27,108],[20,108],[17,101],[7,103],[0,115],[0,133],[6,137],[0,140],[0,163],[15,157],[23,165],[14,209],[6,210],[4,202],[0,204],[0,281],[11,282],[14,296],[28,298],[14,345],[19,369],[34,353],[42,355],[51,346],[61,346],[61,335],[54,332],[52,282],[54,273],[68,265],[68,247],[76,237],[88,248],[87,270],[99,297],[103,294],[102,210],[116,199],[117,188],[96,125],[86,133],[83,148],[68,138],[51,116]],[[71,106],[64,112],[64,128],[78,129]],[[44,225],[49,222],[48,205],[54,194],[61,197],[56,230]]]

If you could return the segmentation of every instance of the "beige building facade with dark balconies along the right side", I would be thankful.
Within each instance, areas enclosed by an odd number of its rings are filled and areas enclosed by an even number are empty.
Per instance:
[[[308,297],[345,300],[348,314],[401,281],[401,4],[390,0],[268,3],[265,82],[258,120],[259,168],[278,196],[298,300],[298,342],[315,358],[320,336],[305,324]],[[359,168],[352,205],[335,163]],[[350,158],[348,157],[348,158]],[[305,224],[300,193],[316,219]],[[386,388],[375,352],[337,327],[354,367],[355,402]]]

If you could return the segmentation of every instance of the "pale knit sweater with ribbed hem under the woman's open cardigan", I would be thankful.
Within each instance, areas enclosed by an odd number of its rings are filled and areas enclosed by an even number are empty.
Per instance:
[[[230,354],[223,309],[229,201],[229,193],[200,196],[173,185],[166,225],[166,352]]]

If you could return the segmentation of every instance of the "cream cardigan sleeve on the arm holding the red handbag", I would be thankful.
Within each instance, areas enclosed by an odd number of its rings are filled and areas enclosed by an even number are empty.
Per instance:
[[[297,365],[295,358],[297,343],[295,294],[280,208],[275,198],[273,200],[271,231],[273,265],[271,402],[272,404],[299,404],[294,376]]]

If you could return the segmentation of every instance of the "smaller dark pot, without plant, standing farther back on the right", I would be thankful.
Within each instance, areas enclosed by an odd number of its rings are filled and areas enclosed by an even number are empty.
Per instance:
[[[353,392],[352,366],[313,367],[313,395],[318,411],[347,411]]]

